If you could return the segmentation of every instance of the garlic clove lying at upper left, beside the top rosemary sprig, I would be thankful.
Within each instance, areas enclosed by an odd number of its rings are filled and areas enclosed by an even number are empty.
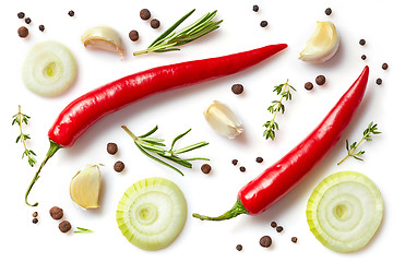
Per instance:
[[[93,27],[87,29],[81,39],[86,48],[117,52],[123,57],[121,37],[114,28],[107,26]]]

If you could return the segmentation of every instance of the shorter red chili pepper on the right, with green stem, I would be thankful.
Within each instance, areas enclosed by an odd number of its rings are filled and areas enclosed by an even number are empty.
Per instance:
[[[337,143],[364,97],[368,75],[369,68],[366,67],[322,122],[302,142],[239,191],[231,210],[217,217],[199,214],[193,216],[203,221],[223,221],[240,214],[255,215],[286,195]]]

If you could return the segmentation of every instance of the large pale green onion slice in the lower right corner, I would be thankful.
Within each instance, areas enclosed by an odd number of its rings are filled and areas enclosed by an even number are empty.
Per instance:
[[[383,200],[365,175],[341,171],[323,179],[307,204],[307,222],[315,238],[336,252],[365,247],[383,216]]]

